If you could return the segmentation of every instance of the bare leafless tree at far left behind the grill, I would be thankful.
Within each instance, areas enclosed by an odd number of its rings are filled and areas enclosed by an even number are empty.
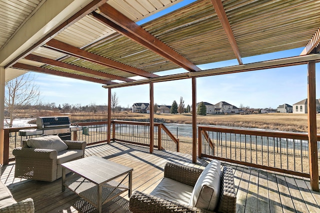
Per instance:
[[[12,122],[17,113],[26,105],[36,105],[39,101],[39,86],[34,83],[34,75],[30,73],[10,80],[6,84],[4,104],[7,107],[9,119],[5,122],[12,127]]]

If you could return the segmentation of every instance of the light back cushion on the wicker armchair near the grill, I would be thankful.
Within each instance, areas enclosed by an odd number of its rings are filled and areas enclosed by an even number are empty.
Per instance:
[[[68,146],[57,135],[30,138],[26,141],[26,145],[34,149],[53,149],[57,152],[68,148]]]

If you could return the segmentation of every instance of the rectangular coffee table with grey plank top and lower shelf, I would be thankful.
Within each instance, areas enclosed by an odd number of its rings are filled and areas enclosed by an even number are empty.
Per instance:
[[[62,192],[65,187],[93,205],[101,213],[102,205],[125,191],[132,193],[132,168],[96,156],[70,161],[62,166]],[[66,178],[65,169],[73,174]],[[122,181],[114,179],[124,176]],[[122,184],[128,177],[128,186]],[[122,178],[122,177],[121,177]]]

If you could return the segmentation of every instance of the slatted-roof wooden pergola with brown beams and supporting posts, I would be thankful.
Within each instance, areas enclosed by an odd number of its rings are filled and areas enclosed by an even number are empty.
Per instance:
[[[136,23],[176,5],[171,12]],[[318,7],[317,0],[0,0],[0,120],[4,118],[5,82],[28,71],[101,84],[108,89],[110,115],[111,88],[149,84],[152,112],[154,82],[191,78],[195,106],[196,77],[308,64],[310,183],[312,190],[318,191]],[[295,57],[251,64],[243,64],[241,59],[298,47],[304,50]],[[207,70],[198,67],[230,59],[236,59],[238,65]],[[185,73],[154,74],[175,68],[183,68]],[[133,76],[143,79],[133,80]],[[150,113],[151,153],[152,127]],[[3,122],[0,154],[3,156]]]

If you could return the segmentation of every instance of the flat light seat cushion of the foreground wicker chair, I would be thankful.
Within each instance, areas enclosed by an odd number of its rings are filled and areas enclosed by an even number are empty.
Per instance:
[[[163,178],[150,195],[188,205],[193,188],[169,178]]]

